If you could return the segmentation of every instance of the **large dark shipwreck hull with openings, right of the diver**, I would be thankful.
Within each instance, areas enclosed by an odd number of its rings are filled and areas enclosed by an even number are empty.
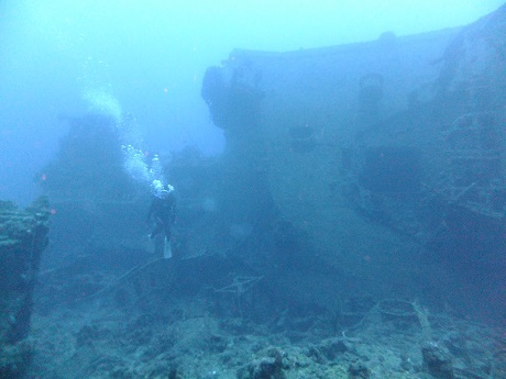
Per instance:
[[[452,269],[481,253],[444,257],[462,233],[455,213],[505,235],[505,13],[345,46],[234,51],[213,80],[208,70],[202,97],[226,132],[235,197],[254,212],[261,181],[310,242],[306,254],[283,254],[342,270],[342,292],[460,296]],[[504,244],[485,249],[487,266],[504,270]],[[450,271],[430,266],[444,260]],[[360,279],[346,287],[345,277]],[[496,283],[484,286],[496,296]]]

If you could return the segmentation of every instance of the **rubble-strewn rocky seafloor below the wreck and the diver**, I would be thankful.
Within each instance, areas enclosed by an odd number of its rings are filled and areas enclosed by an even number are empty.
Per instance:
[[[48,293],[65,288],[56,277],[47,280],[55,287],[38,294],[29,377],[506,378],[504,331],[450,310],[430,313],[417,302],[384,300],[361,314],[294,314],[270,310],[256,282],[243,291],[202,286],[189,294],[170,280],[170,264],[148,266],[151,283],[140,285],[136,269],[62,303]],[[105,278],[96,272],[73,286],[86,291]]]

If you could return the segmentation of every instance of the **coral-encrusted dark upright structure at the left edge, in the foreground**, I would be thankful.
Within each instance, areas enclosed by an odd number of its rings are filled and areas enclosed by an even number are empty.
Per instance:
[[[31,357],[25,339],[41,253],[47,245],[48,201],[20,210],[0,202],[0,377],[21,377]]]

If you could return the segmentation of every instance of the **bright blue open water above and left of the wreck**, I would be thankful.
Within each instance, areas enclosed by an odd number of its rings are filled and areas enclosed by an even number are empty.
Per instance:
[[[28,204],[33,172],[68,127],[61,115],[123,112],[148,148],[223,148],[199,91],[233,48],[296,51],[460,26],[487,1],[2,1],[2,198]]]

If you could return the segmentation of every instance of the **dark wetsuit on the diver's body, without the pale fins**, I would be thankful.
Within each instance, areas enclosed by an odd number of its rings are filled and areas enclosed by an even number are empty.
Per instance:
[[[155,228],[150,234],[150,238],[156,237],[162,232],[165,232],[167,241],[170,241],[170,225],[176,219],[176,198],[168,191],[161,196],[153,197],[150,211],[147,212],[147,222],[154,220]]]

